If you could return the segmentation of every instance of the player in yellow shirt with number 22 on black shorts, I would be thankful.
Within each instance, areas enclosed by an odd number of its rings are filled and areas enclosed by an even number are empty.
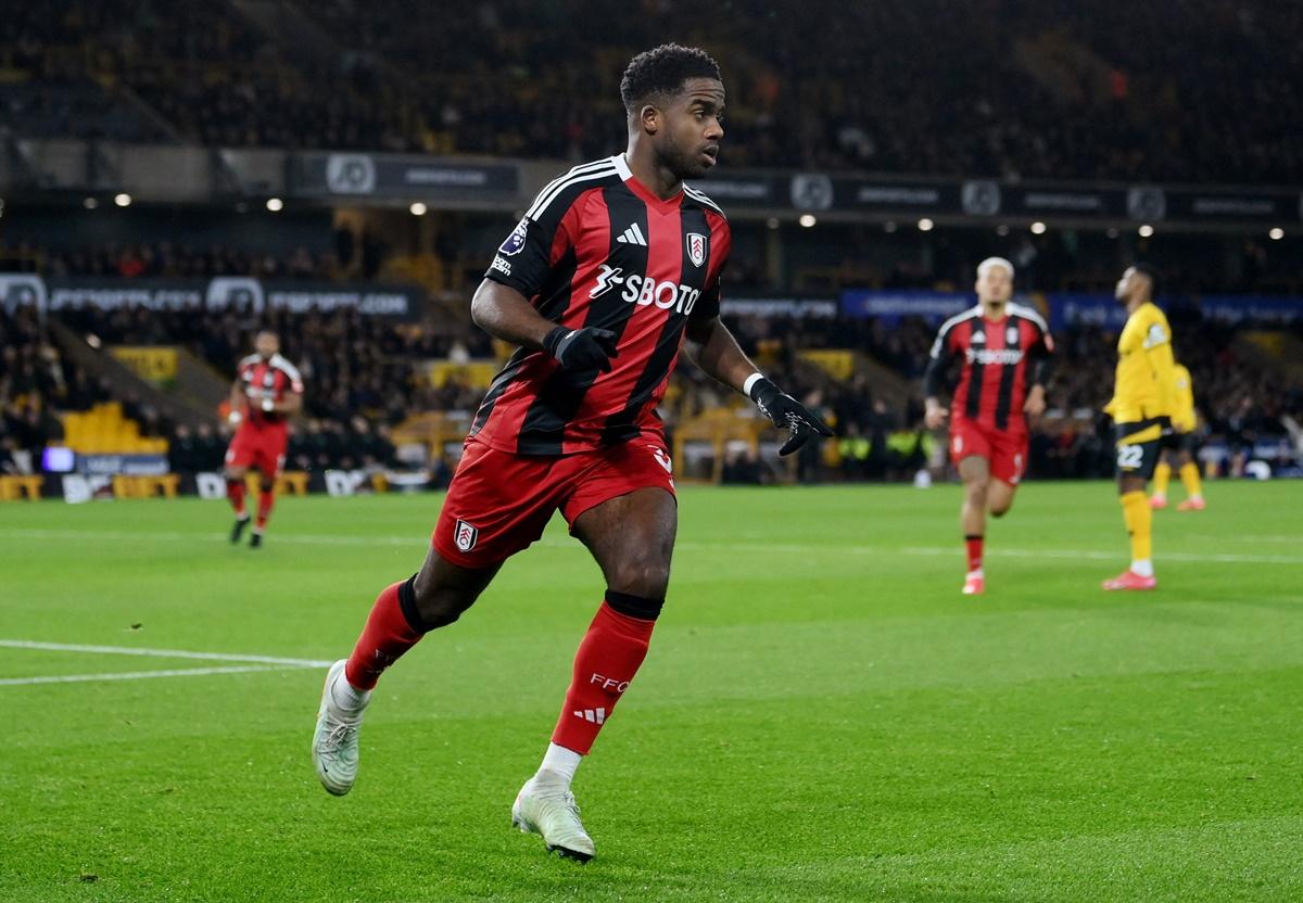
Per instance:
[[[1127,267],[1114,296],[1126,305],[1127,324],[1118,339],[1118,371],[1113,400],[1105,410],[1113,416],[1118,461],[1118,494],[1122,516],[1131,534],[1131,567],[1104,589],[1154,589],[1153,511],[1145,485],[1153,477],[1164,437],[1171,431],[1173,367],[1171,327],[1153,302],[1158,272],[1145,263]]]

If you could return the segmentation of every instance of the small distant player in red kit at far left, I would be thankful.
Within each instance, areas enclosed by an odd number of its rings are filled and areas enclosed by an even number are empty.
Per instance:
[[[304,380],[289,361],[280,356],[280,337],[263,331],[254,339],[257,353],[240,361],[231,386],[231,422],[236,434],[227,448],[227,498],[236,512],[231,542],[240,542],[249,526],[245,509],[245,476],[250,468],[259,472],[258,520],[249,545],[262,546],[271,506],[275,503],[276,476],[285,464],[288,420],[304,407]]]

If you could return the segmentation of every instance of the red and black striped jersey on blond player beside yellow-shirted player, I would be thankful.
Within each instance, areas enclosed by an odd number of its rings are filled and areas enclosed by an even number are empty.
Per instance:
[[[936,397],[949,364],[962,361],[959,386],[950,403],[951,420],[967,418],[994,430],[1025,433],[1027,367],[1038,361],[1035,382],[1046,377],[1044,362],[1054,339],[1038,313],[1010,304],[1007,315],[990,321],[981,305],[947,319],[932,345],[926,394]]]

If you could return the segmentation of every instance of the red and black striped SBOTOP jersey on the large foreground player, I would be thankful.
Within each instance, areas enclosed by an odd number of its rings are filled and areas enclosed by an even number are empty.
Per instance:
[[[657,198],[623,154],[552,181],[485,278],[554,323],[615,332],[614,369],[563,370],[546,352],[521,348],[490,384],[470,435],[499,451],[567,455],[659,429],[655,407],[688,321],[719,314],[731,244],[710,198],[691,186]]]

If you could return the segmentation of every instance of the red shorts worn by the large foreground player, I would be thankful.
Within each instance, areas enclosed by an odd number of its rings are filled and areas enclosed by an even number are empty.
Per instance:
[[[537,541],[558,508],[573,528],[589,508],[648,487],[674,495],[670,455],[657,431],[558,457],[468,439],[431,542],[453,564],[489,567]]]

